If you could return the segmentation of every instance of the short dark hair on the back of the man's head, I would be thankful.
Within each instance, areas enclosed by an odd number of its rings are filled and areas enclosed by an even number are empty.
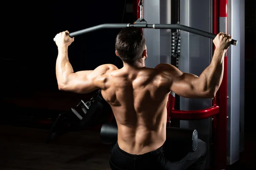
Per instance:
[[[145,38],[141,28],[126,27],[116,36],[116,51],[120,59],[134,64],[142,57],[145,50]]]

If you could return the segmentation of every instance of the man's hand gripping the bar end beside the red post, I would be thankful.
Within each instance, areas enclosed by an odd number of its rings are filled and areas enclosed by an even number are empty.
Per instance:
[[[213,40],[213,43],[215,45],[215,48],[218,48],[221,50],[227,50],[230,46],[231,40],[232,39],[230,34],[220,32],[219,34],[217,34],[217,36]]]

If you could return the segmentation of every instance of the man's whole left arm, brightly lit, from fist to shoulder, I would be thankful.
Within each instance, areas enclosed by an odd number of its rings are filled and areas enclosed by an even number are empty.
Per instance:
[[[61,32],[55,36],[55,42],[58,46],[56,77],[59,90],[85,94],[96,89],[107,88],[107,73],[117,69],[116,66],[106,64],[100,65],[95,70],[78,71],[74,73],[67,52],[68,46],[73,40],[73,38],[68,36],[68,31]]]

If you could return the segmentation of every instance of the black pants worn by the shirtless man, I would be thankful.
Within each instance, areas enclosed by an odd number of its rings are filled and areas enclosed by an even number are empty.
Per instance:
[[[112,170],[204,170],[206,157],[207,146],[200,139],[197,150],[186,155],[182,151],[165,153],[163,146],[142,155],[133,155],[122,150],[116,143],[111,148],[109,163]]]

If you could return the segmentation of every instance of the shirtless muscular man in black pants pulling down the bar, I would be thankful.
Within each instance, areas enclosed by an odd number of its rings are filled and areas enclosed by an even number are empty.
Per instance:
[[[204,170],[207,150],[198,144],[178,162],[163,156],[166,141],[166,104],[170,91],[186,98],[213,98],[221,85],[224,54],[231,36],[223,32],[213,40],[215,51],[210,65],[198,77],[182,73],[170,64],[146,68],[147,47],[140,28],[127,27],[116,37],[116,56],[123,67],[100,65],[95,70],[74,72],[68,46],[74,38],[68,31],[55,36],[58,46],[56,77],[61,91],[86,94],[101,89],[111,105],[118,126],[118,141],[111,149],[110,165],[116,170]],[[202,145],[202,146],[200,146]]]

